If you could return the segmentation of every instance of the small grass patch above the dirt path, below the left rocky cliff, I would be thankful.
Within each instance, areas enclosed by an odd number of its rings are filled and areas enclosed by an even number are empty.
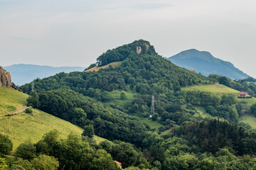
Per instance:
[[[27,94],[0,86],[0,115],[11,113],[26,105]]]

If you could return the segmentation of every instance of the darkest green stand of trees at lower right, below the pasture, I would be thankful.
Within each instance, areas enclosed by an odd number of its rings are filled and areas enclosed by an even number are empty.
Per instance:
[[[213,119],[183,125],[176,131],[176,135],[188,140],[191,146],[201,147],[204,152],[215,153],[218,148],[228,147],[240,155],[256,154],[256,136],[226,121]]]

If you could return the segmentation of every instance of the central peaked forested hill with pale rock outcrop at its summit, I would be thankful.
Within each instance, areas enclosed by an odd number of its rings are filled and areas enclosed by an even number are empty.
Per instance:
[[[86,94],[87,89],[92,87],[103,91],[131,89],[139,94],[159,94],[168,90],[178,91],[181,86],[208,83],[203,75],[189,72],[157,55],[154,47],[144,40],[108,50],[97,58],[97,65],[119,61],[122,61],[119,67],[99,72],[60,73],[36,79],[36,91],[65,88]],[[31,84],[25,84],[21,89],[28,93]]]

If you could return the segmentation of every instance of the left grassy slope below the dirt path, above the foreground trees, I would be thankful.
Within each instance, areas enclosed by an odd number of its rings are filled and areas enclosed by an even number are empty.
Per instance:
[[[14,142],[14,149],[22,142],[38,142],[46,132],[54,129],[60,132],[62,139],[68,137],[70,132],[82,134],[81,128],[38,110],[33,110],[32,114],[19,113],[0,118],[0,133],[9,135]]]

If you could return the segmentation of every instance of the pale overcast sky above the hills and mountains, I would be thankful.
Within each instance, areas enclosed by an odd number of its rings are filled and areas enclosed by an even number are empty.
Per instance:
[[[171,57],[195,48],[256,77],[255,0],[0,0],[0,65],[87,67],[148,40]]]

